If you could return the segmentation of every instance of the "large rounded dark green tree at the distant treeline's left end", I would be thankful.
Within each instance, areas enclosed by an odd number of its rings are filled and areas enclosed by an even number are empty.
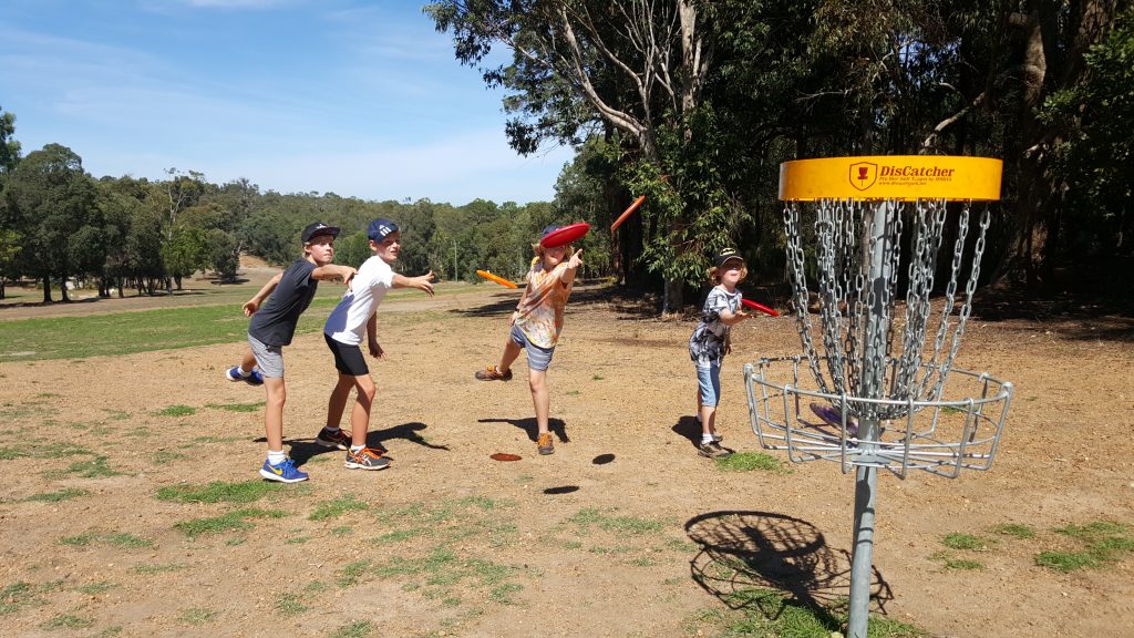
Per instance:
[[[43,301],[51,303],[51,279],[61,283],[68,301],[67,278],[84,275],[92,258],[70,237],[90,238],[102,223],[95,190],[83,170],[83,160],[67,146],[48,144],[29,153],[6,179],[3,226],[23,235],[19,268],[43,280]]]

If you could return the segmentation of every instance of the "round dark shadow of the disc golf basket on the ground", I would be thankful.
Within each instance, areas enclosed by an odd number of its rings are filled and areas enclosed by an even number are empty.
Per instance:
[[[700,552],[689,561],[694,582],[734,610],[776,619],[788,606],[812,610],[832,631],[849,594],[850,553],[827,545],[801,519],[772,512],[709,512],[685,523]],[[772,596],[767,590],[785,594]],[[871,568],[871,610],[886,613],[890,586]]]

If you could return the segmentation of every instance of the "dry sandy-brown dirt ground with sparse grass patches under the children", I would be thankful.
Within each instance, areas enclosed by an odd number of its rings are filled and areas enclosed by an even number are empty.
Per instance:
[[[222,376],[240,343],[0,363],[0,635],[713,636],[747,587],[847,595],[853,476],[700,457],[692,321],[578,291],[549,372],[556,453],[536,455],[526,366],[473,379],[517,297],[485,285],[383,303],[381,472],[313,444],[335,377],[322,337],[299,335],[285,438],[312,480],[263,492],[263,391]],[[794,354],[798,336],[759,318],[734,341],[719,422],[726,446],[758,452],[743,363]],[[1069,573],[1035,556],[1075,548],[1056,528],[1134,523],[1132,342],[1128,318],[972,320],[957,364],[1016,386],[999,454],[955,480],[880,478],[872,619],[938,637],[1131,636],[1134,553]],[[159,498],[212,481],[249,481],[249,496]],[[186,524],[203,519],[232,524]],[[1005,523],[1035,536],[992,531]],[[947,549],[954,532],[989,542]]]

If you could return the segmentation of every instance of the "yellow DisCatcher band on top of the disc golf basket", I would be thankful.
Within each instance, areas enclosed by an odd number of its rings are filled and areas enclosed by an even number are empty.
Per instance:
[[[1000,199],[1002,161],[954,156],[866,156],[786,161],[779,199]]]

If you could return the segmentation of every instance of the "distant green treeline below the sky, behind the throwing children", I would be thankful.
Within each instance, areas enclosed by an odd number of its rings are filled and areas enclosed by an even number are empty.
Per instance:
[[[315,220],[342,228],[336,262],[358,266],[371,254],[367,224],[384,217],[401,228],[401,272],[432,270],[441,279],[472,282],[482,280],[475,271],[484,269],[518,279],[540,232],[578,217],[547,202],[370,202],[333,193],[264,193],[247,179],[218,185],[195,171],[168,175],[94,179],[66,146],[29,153],[0,175],[0,277],[41,282],[44,301],[52,300],[53,285],[66,300],[60,284],[69,278],[95,282],[108,296],[124,288],[180,288],[181,278],[197,270],[235,280],[242,253],[281,267],[301,257],[299,233]],[[585,275],[610,271],[604,234],[592,233],[577,246],[586,250]]]

